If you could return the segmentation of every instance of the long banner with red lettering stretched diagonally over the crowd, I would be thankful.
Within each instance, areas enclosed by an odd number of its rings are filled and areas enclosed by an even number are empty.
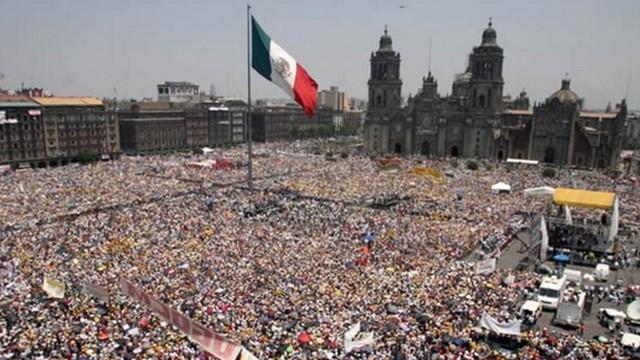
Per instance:
[[[147,294],[129,281],[120,279],[120,289],[122,289],[122,292],[127,296],[141,302],[151,311],[156,313],[156,315],[180,329],[180,331],[187,335],[191,341],[202,346],[205,351],[211,353],[220,360],[236,360],[240,351],[243,351],[242,346],[215,334],[209,329],[206,329],[202,325],[194,322],[188,317],[182,315],[180,312],[170,308],[168,305]],[[245,358],[251,359],[251,357]]]

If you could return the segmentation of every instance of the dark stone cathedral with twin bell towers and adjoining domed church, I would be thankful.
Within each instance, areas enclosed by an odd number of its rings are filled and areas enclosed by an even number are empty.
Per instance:
[[[531,106],[526,92],[503,94],[504,51],[491,22],[482,42],[457,74],[451,94],[441,96],[428,72],[418,93],[402,100],[400,53],[385,27],[371,53],[365,150],[434,157],[530,159],[578,167],[615,167],[625,133],[622,100],[604,112],[582,108],[583,100],[563,79],[560,89]]]

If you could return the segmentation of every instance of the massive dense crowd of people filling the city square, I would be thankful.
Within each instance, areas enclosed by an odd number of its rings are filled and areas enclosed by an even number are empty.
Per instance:
[[[123,157],[0,178],[0,358],[208,358],[176,328],[123,295],[126,278],[259,359],[473,359],[484,353],[481,314],[507,320],[537,279],[476,274],[468,255],[506,244],[518,211],[543,204],[520,190],[616,191],[635,221],[633,179],[487,163],[404,159],[445,179],[379,172],[369,158],[325,161],[271,144],[245,169],[186,166],[203,155]],[[241,149],[209,156],[241,162]],[[490,187],[504,181],[510,194]],[[295,196],[291,196],[295,194]],[[363,199],[394,194],[385,208]],[[263,206],[268,204],[268,206]],[[254,211],[247,211],[253,209]],[[260,209],[260,211],[255,211]],[[364,239],[367,239],[366,242]],[[44,277],[66,285],[63,299]],[[108,301],[84,290],[109,291]],[[360,323],[375,342],[345,353]],[[520,358],[617,358],[578,335],[531,330]]]

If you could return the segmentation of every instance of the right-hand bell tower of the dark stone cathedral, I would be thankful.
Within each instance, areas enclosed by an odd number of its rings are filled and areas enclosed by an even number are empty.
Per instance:
[[[482,32],[482,43],[469,55],[471,79],[469,82],[469,105],[490,112],[502,107],[502,48],[496,42],[498,35],[491,20]]]

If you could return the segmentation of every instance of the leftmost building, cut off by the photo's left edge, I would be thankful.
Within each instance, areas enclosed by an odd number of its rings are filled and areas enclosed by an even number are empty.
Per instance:
[[[46,166],[42,109],[26,96],[0,95],[0,164]]]

